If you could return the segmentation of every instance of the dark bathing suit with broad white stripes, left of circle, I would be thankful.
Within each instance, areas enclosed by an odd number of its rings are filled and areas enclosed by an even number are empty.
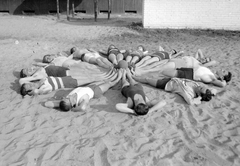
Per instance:
[[[46,84],[49,83],[52,91],[62,88],[76,88],[78,86],[77,80],[70,76],[67,77],[47,77]]]

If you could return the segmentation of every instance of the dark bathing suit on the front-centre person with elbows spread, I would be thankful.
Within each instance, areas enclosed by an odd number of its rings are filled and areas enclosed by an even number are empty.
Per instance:
[[[146,95],[143,91],[143,87],[140,84],[129,85],[122,88],[122,95],[126,98],[130,97],[133,101],[133,108],[135,107],[134,96],[139,94],[143,97],[143,100],[146,102]]]

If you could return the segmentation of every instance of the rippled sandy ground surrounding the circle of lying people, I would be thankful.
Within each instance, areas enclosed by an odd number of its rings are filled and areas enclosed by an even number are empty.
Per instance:
[[[54,16],[0,16],[1,166],[239,166],[240,32],[143,30],[140,17],[57,21]],[[132,26],[129,26],[132,25]],[[80,48],[121,49],[162,45],[193,54],[197,49],[229,70],[233,79],[212,101],[189,106],[176,94],[144,85],[147,96],[167,105],[136,117],[118,113],[125,102],[109,90],[86,112],[60,112],[42,106],[49,95],[19,94],[19,71],[44,54]]]

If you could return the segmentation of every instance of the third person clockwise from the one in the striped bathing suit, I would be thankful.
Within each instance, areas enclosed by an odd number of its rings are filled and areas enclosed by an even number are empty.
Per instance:
[[[80,59],[83,62],[98,65],[100,67],[111,69],[113,64],[105,57],[102,57],[99,52],[93,49],[78,49],[72,48],[73,58]]]

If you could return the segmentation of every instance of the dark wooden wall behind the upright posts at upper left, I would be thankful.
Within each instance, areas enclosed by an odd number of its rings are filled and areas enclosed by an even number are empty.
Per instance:
[[[69,0],[70,10],[94,13],[94,0]],[[56,0],[0,0],[0,12],[10,14],[51,14],[57,12]],[[60,13],[67,10],[67,0],[59,0]],[[108,0],[98,0],[99,12],[108,11]],[[142,13],[142,0],[111,0],[111,13]]]

